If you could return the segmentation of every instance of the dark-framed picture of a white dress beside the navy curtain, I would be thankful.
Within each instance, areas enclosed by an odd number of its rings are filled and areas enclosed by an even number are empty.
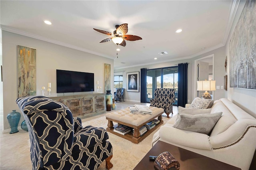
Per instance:
[[[126,73],[126,91],[139,92],[139,72]]]

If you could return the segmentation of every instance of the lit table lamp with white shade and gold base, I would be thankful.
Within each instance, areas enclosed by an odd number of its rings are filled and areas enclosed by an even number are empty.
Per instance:
[[[205,91],[202,95],[204,99],[212,99],[211,95],[208,91],[214,91],[215,88],[215,80],[204,80],[204,81],[197,81],[197,91]]]

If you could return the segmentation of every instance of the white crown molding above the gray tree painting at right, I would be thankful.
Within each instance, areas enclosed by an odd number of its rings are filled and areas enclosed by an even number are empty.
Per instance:
[[[229,10],[229,17],[228,17],[228,24],[226,27],[226,31],[222,40],[223,44],[226,44],[227,40],[228,40],[228,35],[230,33],[230,30],[232,28],[233,22],[234,22],[234,18],[236,16],[236,12],[238,9],[238,6],[240,4],[240,0],[233,0],[233,3],[230,6],[230,10]]]

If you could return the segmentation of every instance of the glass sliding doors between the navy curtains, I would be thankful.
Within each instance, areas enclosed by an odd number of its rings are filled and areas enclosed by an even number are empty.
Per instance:
[[[178,67],[165,67],[147,70],[147,102],[154,98],[156,88],[175,89],[175,102],[178,101]]]

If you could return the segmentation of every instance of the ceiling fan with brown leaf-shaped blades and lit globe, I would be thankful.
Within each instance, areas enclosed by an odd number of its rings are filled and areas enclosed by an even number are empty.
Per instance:
[[[142,40],[142,38],[139,36],[126,35],[126,33],[128,32],[128,24],[116,25],[116,30],[114,31],[113,34],[111,32],[98,30],[96,28],[94,28],[94,30],[102,34],[113,36],[112,38],[107,38],[105,40],[102,40],[100,43],[113,41],[115,44],[122,45],[123,47],[125,47],[126,45],[125,40],[128,40],[128,41]]]

